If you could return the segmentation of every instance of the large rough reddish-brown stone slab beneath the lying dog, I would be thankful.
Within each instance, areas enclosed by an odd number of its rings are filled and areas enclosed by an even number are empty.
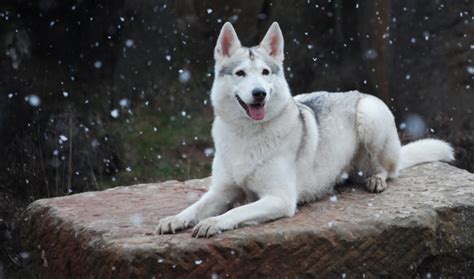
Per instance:
[[[474,174],[407,169],[381,194],[344,185],[292,218],[195,239],[156,235],[209,179],[32,203],[22,238],[41,278],[474,276]],[[217,277],[216,277],[217,276]]]

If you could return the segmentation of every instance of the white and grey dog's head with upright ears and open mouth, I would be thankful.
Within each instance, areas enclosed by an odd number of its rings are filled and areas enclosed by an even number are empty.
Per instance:
[[[214,50],[211,100],[227,121],[268,121],[291,94],[283,72],[283,35],[274,22],[258,46],[242,47],[232,24],[225,23]]]

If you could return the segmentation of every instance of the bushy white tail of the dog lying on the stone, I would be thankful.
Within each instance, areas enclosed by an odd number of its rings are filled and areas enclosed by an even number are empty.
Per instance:
[[[402,146],[400,169],[417,164],[443,161],[454,161],[454,150],[445,141],[437,139],[422,139]]]

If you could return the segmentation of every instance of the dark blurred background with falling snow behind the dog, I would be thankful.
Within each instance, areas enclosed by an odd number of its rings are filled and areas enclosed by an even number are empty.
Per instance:
[[[280,23],[294,95],[376,95],[404,142],[448,140],[474,171],[472,0],[2,0],[0,278],[35,199],[210,174],[226,21],[246,46]]]

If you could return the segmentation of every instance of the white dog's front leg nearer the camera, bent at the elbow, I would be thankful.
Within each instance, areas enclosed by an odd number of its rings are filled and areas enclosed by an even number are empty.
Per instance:
[[[259,199],[226,213],[207,218],[193,229],[195,237],[210,237],[225,230],[250,222],[265,222],[282,217],[291,217],[296,211],[295,175],[292,168],[276,164],[259,171],[253,182]]]

